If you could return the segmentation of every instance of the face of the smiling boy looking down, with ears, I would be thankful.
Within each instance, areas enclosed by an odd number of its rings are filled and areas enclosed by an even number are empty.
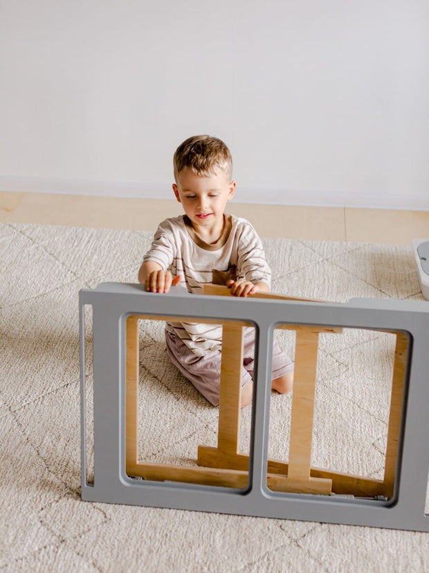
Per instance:
[[[235,181],[230,182],[221,169],[206,177],[185,168],[177,176],[173,191],[194,229],[210,231],[223,225],[223,212],[234,196]]]

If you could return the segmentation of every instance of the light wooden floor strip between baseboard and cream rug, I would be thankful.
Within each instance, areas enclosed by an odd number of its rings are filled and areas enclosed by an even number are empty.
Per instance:
[[[262,237],[365,241],[406,245],[429,238],[429,211],[255,205],[231,202],[228,212],[253,223]],[[181,214],[175,200],[0,192],[0,222],[154,231]]]

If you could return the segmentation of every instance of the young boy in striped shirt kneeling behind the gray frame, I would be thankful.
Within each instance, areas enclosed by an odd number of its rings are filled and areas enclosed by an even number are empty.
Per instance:
[[[235,193],[230,150],[220,139],[193,136],[174,153],[173,191],[185,215],[166,219],[143,258],[138,281],[150,292],[171,285],[201,293],[205,283],[228,285],[236,297],[270,290],[271,270],[262,242],[245,219],[224,211]],[[167,322],[167,355],[212,405],[219,405],[222,328]],[[246,328],[241,407],[252,400],[255,329]],[[273,344],[272,387],[292,389],[293,362]]]

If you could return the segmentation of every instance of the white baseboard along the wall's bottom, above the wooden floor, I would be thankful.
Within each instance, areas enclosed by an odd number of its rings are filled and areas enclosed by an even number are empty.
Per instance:
[[[105,182],[83,179],[12,177],[10,175],[0,175],[0,191],[161,200],[174,198],[170,183]],[[238,187],[234,201],[236,203],[266,205],[429,211],[429,193],[423,196],[413,195],[412,192],[407,194],[392,194],[386,191],[350,193],[347,191],[298,191]]]

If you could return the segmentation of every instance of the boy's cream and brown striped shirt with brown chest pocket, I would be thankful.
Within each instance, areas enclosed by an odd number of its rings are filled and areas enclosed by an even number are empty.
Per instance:
[[[271,285],[264,247],[250,222],[225,215],[225,223],[219,240],[209,245],[197,236],[186,215],[166,219],[156,230],[143,261],[169,269],[173,278],[181,276],[180,284],[195,294],[201,294],[206,283],[226,284],[229,279]],[[181,337],[197,355],[221,348],[221,326],[167,322],[166,329]]]

